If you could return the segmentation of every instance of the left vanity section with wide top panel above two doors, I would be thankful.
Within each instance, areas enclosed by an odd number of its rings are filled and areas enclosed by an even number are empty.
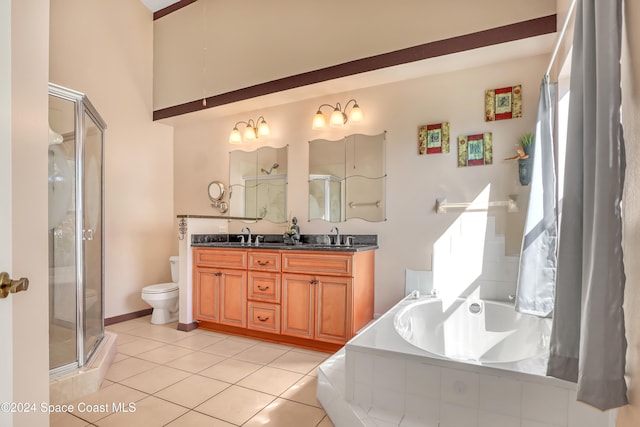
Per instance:
[[[244,328],[247,325],[247,252],[194,251],[193,317]]]

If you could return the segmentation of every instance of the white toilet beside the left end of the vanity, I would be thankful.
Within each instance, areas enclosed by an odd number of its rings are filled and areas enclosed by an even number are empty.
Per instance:
[[[153,307],[151,323],[162,325],[178,320],[178,280],[180,276],[179,257],[169,258],[172,283],[158,283],[142,288],[142,299]]]

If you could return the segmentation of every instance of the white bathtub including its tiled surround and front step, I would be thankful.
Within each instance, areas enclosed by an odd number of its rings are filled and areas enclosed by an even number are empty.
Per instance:
[[[549,320],[491,301],[406,297],[320,365],[336,427],[614,427],[545,376]]]

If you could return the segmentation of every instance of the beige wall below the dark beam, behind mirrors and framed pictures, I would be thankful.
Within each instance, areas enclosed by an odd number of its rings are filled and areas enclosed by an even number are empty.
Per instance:
[[[228,183],[228,152],[235,149],[227,142],[229,132],[238,120],[264,115],[271,125],[272,136],[261,144],[289,145],[288,211],[298,217],[303,233],[329,233],[332,224],[308,222],[307,141],[338,139],[354,132],[373,135],[386,130],[388,220],[369,223],[354,219],[339,224],[341,233],[378,234],[375,310],[384,312],[403,294],[405,268],[431,268],[433,243],[457,217],[455,213],[436,215],[437,197],[471,201],[491,184],[492,200],[506,200],[509,194],[519,194],[526,204],[528,187],[518,183],[517,163],[503,159],[515,154],[518,137],[533,127],[546,61],[547,56],[536,56],[213,118],[199,124],[176,125],[175,145],[179,147],[174,154],[176,214],[215,213],[209,206],[206,188],[214,179]],[[514,84],[523,85],[524,116],[485,122],[485,89]],[[344,130],[311,130],[318,105],[344,103],[352,97],[365,114],[361,125],[347,126]],[[442,121],[451,123],[451,152],[419,156],[418,126]],[[458,168],[457,136],[486,131],[493,132],[494,164]],[[498,217],[499,230],[509,236],[508,250],[515,253],[520,246],[524,216],[522,212],[509,215],[505,212],[504,208],[492,210]],[[242,225],[232,222],[230,233],[239,232]],[[281,225],[268,222],[253,224],[251,229],[260,233],[283,231]]]

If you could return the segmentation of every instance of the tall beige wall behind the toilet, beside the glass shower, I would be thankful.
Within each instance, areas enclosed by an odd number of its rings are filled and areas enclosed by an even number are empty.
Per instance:
[[[170,281],[173,130],[152,121],[153,20],[139,1],[51,3],[50,81],[86,93],[107,123],[105,316],[148,308]]]

